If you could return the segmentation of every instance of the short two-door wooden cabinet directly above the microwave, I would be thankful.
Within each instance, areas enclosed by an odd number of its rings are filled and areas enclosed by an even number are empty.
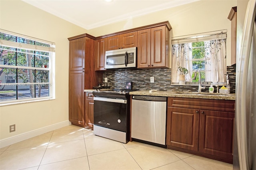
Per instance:
[[[107,38],[107,51],[137,47],[137,31]]]

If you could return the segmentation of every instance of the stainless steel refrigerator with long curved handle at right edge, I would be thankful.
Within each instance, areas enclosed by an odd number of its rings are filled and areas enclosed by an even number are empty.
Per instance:
[[[237,46],[236,59],[233,169],[256,170],[256,0],[238,0],[237,14],[239,10],[242,12],[241,3],[246,2],[243,29],[237,30],[240,46]],[[237,24],[242,24],[242,20]],[[239,40],[240,35],[242,38]]]

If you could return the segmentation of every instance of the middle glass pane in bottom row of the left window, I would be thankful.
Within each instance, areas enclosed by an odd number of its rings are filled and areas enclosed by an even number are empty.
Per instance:
[[[34,85],[18,85],[18,99],[29,99],[35,97]]]

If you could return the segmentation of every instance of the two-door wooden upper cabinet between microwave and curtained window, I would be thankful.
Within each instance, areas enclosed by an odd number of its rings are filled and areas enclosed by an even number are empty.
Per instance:
[[[137,67],[169,68],[169,36],[167,26],[138,31]]]

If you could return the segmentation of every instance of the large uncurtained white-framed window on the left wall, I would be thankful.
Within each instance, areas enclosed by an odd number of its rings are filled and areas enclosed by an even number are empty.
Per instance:
[[[54,97],[54,43],[0,30],[0,104]]]

